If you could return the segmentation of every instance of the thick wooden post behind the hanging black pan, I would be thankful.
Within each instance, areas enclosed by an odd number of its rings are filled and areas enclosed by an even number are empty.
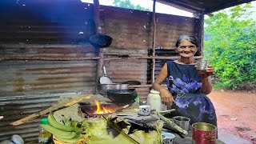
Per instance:
[[[95,28],[96,28],[96,34],[102,34],[102,27],[100,24],[100,19],[99,19],[99,12],[100,12],[100,5],[98,0],[94,0],[94,22],[95,22]],[[100,59],[98,59],[97,62],[97,71],[96,71],[96,83],[98,83],[98,78],[99,76],[102,74],[102,66],[103,66],[103,50],[102,48],[99,48],[98,50],[98,56],[101,57]]]

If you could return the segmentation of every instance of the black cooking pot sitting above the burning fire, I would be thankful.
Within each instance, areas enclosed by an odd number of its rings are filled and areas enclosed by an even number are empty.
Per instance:
[[[137,95],[135,89],[107,90],[107,97],[118,103],[134,102]]]

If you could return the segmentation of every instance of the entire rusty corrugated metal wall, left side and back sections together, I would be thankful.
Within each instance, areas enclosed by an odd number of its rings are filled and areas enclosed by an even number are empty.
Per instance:
[[[38,119],[21,126],[9,123],[52,106],[61,95],[94,93],[97,54],[89,43],[94,34],[93,6],[76,0],[0,4],[0,115],[5,117],[0,120],[0,141],[19,134],[30,142],[37,139]],[[144,101],[150,91],[146,85],[151,80],[152,14],[110,6],[101,9],[103,32],[113,38],[110,47],[103,49],[106,72],[116,82],[142,82],[145,86],[136,90]],[[180,34],[198,33],[195,18],[156,16],[156,44],[166,50],[161,54],[174,56]],[[156,75],[161,62],[156,61]]]

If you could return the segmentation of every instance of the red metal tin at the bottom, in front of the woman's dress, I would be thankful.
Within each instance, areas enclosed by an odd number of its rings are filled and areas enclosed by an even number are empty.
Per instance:
[[[216,144],[217,127],[206,122],[192,124],[193,144]]]

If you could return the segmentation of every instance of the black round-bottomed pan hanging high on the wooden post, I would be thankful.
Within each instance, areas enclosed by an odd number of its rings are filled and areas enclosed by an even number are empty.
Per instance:
[[[90,37],[90,44],[97,48],[110,46],[112,38],[106,34],[95,34]]]

